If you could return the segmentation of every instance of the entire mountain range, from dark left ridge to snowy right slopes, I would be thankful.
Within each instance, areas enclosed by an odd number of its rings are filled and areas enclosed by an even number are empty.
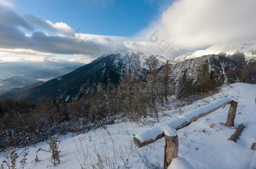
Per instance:
[[[223,51],[227,52],[227,50]],[[252,52],[252,50],[250,51]],[[214,70],[219,74],[223,84],[236,82],[256,83],[256,60],[254,60],[253,55],[248,56],[239,52],[227,54],[217,50],[214,53],[217,54],[201,55],[200,57],[190,53],[174,60],[169,59],[172,63],[170,76],[175,80],[174,85],[178,85],[178,81],[185,70],[188,72],[188,77],[196,79],[196,75],[204,64],[208,65],[208,71]],[[102,83],[106,87],[110,83],[119,84],[127,73],[131,76],[140,76],[145,79],[152,61],[157,64],[156,67],[159,72],[167,60],[161,55],[147,57],[144,53],[134,50],[118,50],[114,53],[104,54],[91,63],[64,76],[29,88],[29,90],[23,92],[22,96],[19,95],[19,98],[31,101],[39,99],[52,101],[54,98],[58,101],[78,101],[87,94],[81,90],[82,85],[86,84],[88,86],[87,81],[89,81],[89,86],[93,83],[96,85]],[[8,93],[5,93],[5,98],[7,96]]]

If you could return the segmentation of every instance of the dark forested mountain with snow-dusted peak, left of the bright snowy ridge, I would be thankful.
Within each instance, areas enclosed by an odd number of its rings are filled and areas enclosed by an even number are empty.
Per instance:
[[[77,101],[87,93],[81,91],[81,86],[89,81],[89,85],[102,83],[105,86],[112,83],[117,85],[126,73],[131,75],[146,74],[146,62],[154,57],[146,58],[143,53],[134,50],[122,50],[116,53],[102,55],[91,63],[60,78],[55,78],[41,86],[29,90],[24,96],[27,100],[53,100]],[[160,66],[160,65],[159,65]]]

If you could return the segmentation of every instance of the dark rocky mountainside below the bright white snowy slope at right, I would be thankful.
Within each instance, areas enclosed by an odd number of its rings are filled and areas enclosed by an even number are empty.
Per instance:
[[[229,56],[204,55],[178,62],[172,66],[172,78],[178,81],[186,70],[190,78],[196,79],[204,64],[209,66],[209,71],[213,70],[219,74],[223,84],[237,82],[256,84],[256,61],[246,60],[243,53]]]

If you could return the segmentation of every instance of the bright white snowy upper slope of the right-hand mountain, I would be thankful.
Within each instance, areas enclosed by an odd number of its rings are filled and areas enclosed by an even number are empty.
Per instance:
[[[226,55],[232,55],[235,52],[244,53],[248,58],[256,58],[256,40],[247,41],[233,41],[229,43],[212,45],[205,50],[196,50],[185,55],[181,55],[172,60],[172,63],[181,62],[191,58],[199,58],[203,55],[226,53]]]

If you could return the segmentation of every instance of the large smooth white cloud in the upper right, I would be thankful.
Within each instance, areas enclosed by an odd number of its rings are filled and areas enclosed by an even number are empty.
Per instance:
[[[255,0],[177,0],[139,36],[157,36],[178,50],[255,38]]]

